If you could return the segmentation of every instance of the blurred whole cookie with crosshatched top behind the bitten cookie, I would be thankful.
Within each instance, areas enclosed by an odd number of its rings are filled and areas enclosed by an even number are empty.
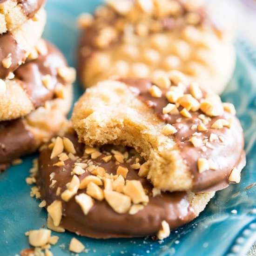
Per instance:
[[[94,16],[79,18],[81,81],[90,87],[113,75],[154,78],[182,71],[220,94],[235,67],[226,31],[207,14],[203,1],[108,0]]]

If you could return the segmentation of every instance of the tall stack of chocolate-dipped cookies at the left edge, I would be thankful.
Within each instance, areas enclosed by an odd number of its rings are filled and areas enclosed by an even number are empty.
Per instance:
[[[40,39],[44,0],[0,1],[0,170],[36,150],[66,121],[74,70]]]

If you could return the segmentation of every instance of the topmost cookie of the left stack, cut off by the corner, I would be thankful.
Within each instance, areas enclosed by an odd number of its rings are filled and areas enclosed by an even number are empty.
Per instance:
[[[27,20],[37,19],[37,11],[45,0],[1,0],[0,1],[0,34],[20,27]]]

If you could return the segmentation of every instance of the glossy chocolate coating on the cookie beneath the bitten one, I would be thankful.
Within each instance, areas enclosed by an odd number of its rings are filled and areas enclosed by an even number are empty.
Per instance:
[[[78,143],[75,135],[66,135],[73,141],[78,156],[83,155],[84,145]],[[53,166],[58,162],[58,158],[50,159],[51,150],[46,148],[41,151],[39,157],[39,173],[37,177],[37,184],[40,188],[41,199],[46,200],[47,205],[54,200],[61,200],[60,196],[56,196],[56,190],[61,188],[61,193],[67,188],[67,182],[71,181],[72,176],[70,172],[74,167],[74,161],[65,161],[64,167]],[[99,156],[94,160],[99,166],[105,168],[109,174],[116,174],[117,165],[114,160],[105,163]],[[114,157],[112,157],[114,159]],[[137,171],[132,169],[130,163],[123,163],[121,166],[129,169],[128,180],[140,180],[144,189],[151,191],[152,185],[144,178],[137,175]],[[54,188],[50,188],[51,173],[55,173],[54,180],[57,182]],[[82,180],[90,173],[86,171],[83,175],[78,175]],[[79,193],[85,193],[82,189]],[[61,200],[62,201],[62,200]],[[149,236],[156,235],[161,228],[161,222],[166,220],[171,229],[175,229],[184,223],[187,223],[195,218],[195,213],[185,192],[162,193],[155,197],[149,198],[149,203],[135,215],[118,214],[108,203],[94,200],[94,206],[90,209],[88,215],[84,215],[80,206],[75,202],[74,197],[69,202],[62,201],[62,219],[61,226],[65,229],[76,232],[82,236],[89,236],[94,238],[114,238],[114,237],[133,237],[133,236]]]

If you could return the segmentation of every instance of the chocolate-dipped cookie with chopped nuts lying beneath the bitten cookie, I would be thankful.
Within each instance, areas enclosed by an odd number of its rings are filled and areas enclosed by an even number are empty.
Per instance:
[[[138,165],[143,159],[132,148],[89,148],[70,133],[54,138],[40,152],[33,189],[47,208],[48,228],[93,238],[163,239],[214,195],[161,192],[138,175]]]

